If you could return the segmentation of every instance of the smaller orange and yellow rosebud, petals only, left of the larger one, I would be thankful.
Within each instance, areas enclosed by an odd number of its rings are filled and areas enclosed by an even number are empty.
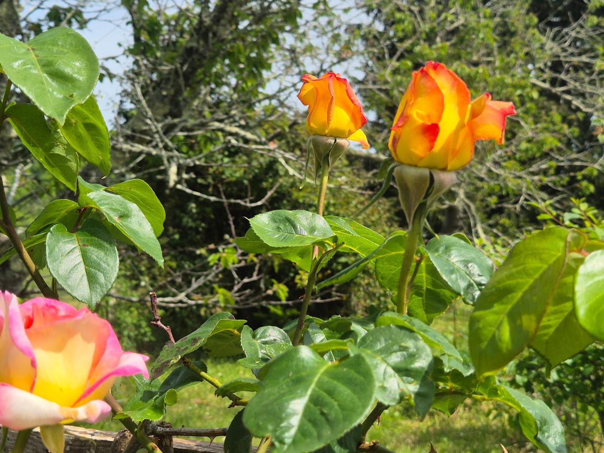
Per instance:
[[[319,79],[305,74],[302,80],[298,99],[308,106],[308,132],[358,141],[367,149],[369,143],[361,130],[367,118],[350,83],[335,72],[327,72]]]

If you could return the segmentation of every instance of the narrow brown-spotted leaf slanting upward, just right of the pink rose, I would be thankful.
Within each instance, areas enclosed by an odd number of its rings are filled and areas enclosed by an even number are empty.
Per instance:
[[[245,321],[234,320],[231,313],[214,313],[199,329],[179,339],[175,344],[167,344],[162,348],[151,368],[151,379],[161,376],[165,370],[178,362],[182,356],[204,346],[210,336],[223,332],[223,330],[240,331],[243,324],[245,324]]]

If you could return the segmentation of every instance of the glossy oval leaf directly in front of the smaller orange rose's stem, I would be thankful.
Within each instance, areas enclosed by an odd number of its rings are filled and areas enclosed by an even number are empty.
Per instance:
[[[273,247],[311,245],[333,236],[327,221],[309,211],[269,211],[252,217],[249,224],[264,243]]]

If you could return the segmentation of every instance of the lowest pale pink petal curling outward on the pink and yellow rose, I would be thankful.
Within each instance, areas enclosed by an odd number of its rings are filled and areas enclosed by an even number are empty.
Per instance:
[[[95,423],[110,412],[111,408],[104,401],[94,400],[77,408],[68,408],[0,383],[0,425],[11,429],[74,421]]]

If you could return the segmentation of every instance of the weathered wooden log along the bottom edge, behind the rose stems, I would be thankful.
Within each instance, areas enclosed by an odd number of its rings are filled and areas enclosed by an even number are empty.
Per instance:
[[[121,431],[120,431],[121,433]],[[101,431],[100,429],[80,428],[79,426],[65,426],[65,453],[118,453],[123,450],[112,449],[114,439],[120,434],[113,431]],[[4,452],[10,453],[16,438],[16,431],[8,431],[8,440]],[[126,439],[127,435],[122,434]],[[123,440],[120,445],[125,446]],[[187,439],[173,439],[174,453],[223,453],[222,443],[198,442]],[[252,448],[252,451],[255,451]],[[48,453],[48,450],[40,438],[40,430],[34,429],[30,440],[25,448],[25,453]]]

